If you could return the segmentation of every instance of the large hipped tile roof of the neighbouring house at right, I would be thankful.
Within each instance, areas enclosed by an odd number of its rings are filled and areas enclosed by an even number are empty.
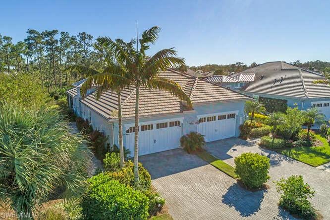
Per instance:
[[[255,77],[253,82],[243,88],[245,92],[298,98],[330,98],[329,85],[313,84],[315,80],[325,79],[322,74],[286,62],[266,62],[230,77],[249,73],[255,74]]]

